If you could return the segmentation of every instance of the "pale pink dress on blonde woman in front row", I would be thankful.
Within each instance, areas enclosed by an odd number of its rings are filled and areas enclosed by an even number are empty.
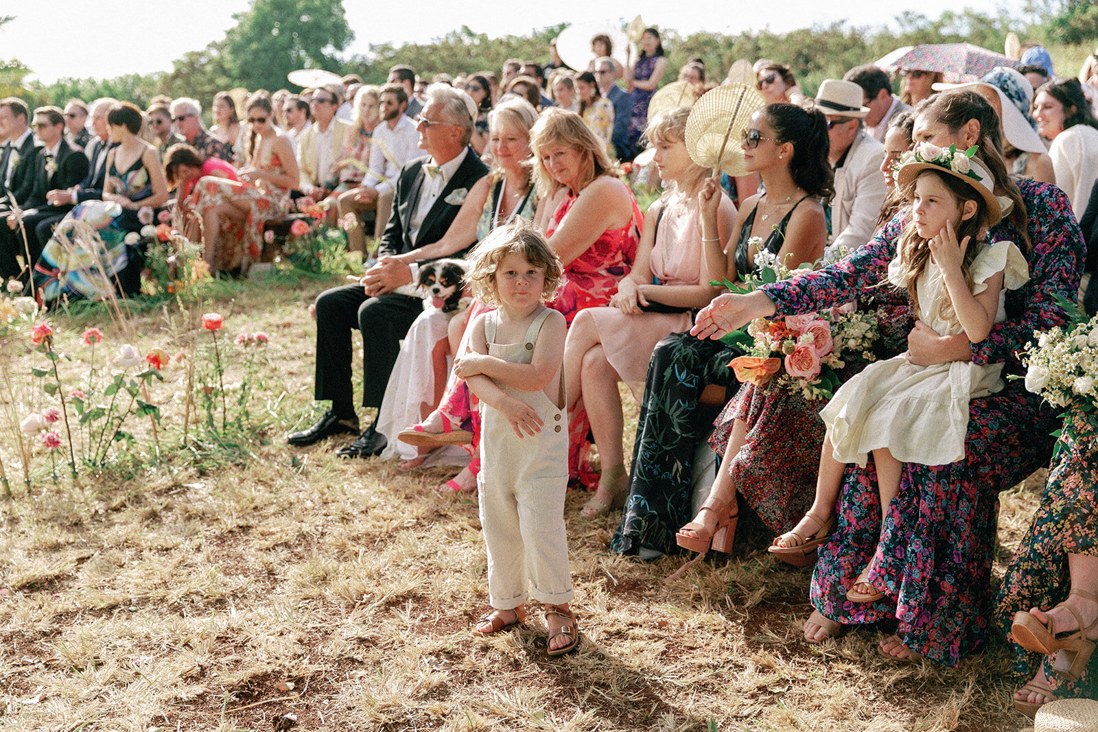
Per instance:
[[[696,205],[687,205],[679,196],[665,202],[649,262],[652,277],[660,284],[702,283],[702,234]],[[626,315],[616,307],[598,307],[591,315],[606,360],[638,402],[645,393],[648,361],[656,344],[691,326],[690,313]]]

